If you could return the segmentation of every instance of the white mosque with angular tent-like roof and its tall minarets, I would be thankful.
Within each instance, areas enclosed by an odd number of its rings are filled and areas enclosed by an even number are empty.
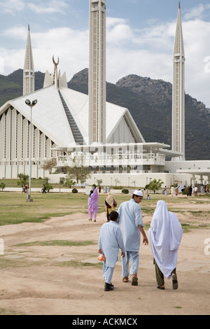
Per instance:
[[[90,169],[86,181],[90,185],[99,179],[104,186],[118,182],[142,187],[153,179],[161,179],[167,187],[174,182],[210,183],[210,160],[185,160],[186,58],[180,3],[173,53],[172,146],[146,143],[129,109],[106,102],[106,0],[90,0],[89,15],[88,95],[68,88],[66,73],[60,73],[59,58],[54,57],[53,73],[46,71],[43,88],[34,91],[28,29],[23,94],[0,108],[0,177],[15,179],[20,173],[29,174],[31,167],[31,177],[48,176],[55,183],[65,175],[49,175],[42,168],[44,162],[55,158],[53,170],[64,172],[77,157]]]

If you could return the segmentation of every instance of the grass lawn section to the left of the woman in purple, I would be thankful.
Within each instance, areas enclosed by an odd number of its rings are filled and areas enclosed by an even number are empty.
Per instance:
[[[87,211],[87,196],[57,193],[31,193],[27,202],[22,193],[0,193],[0,225],[41,222],[53,216],[64,216],[74,211]]]

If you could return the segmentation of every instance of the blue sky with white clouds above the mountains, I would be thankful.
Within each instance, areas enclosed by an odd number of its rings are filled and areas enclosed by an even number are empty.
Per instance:
[[[106,0],[106,80],[137,74],[172,83],[178,0]],[[181,0],[186,93],[210,108],[210,2]],[[0,0],[0,73],[22,69],[27,26],[35,71],[53,71],[52,55],[69,81],[88,67],[89,0]]]

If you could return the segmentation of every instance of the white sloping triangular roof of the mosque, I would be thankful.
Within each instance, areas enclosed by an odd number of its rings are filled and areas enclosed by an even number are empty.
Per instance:
[[[66,147],[75,144],[75,139],[69,126],[69,120],[66,116],[64,106],[62,104],[62,95],[66,106],[71,112],[71,116],[78,127],[80,134],[83,137],[84,144],[88,145],[88,116],[89,116],[89,100],[88,95],[67,87],[57,89],[55,85],[44,87],[41,90],[36,90],[31,94],[18,97],[6,102],[0,108],[0,115],[13,106],[18,112],[31,120],[29,106],[25,104],[25,100],[33,101],[37,99],[36,105],[32,108],[32,123],[48,138],[50,138],[58,147]],[[130,130],[136,142],[144,143],[144,138],[139,132],[137,125],[134,123],[128,109],[116,104],[106,102],[106,142],[109,141],[111,134],[120,123],[120,120],[125,117],[129,123]]]

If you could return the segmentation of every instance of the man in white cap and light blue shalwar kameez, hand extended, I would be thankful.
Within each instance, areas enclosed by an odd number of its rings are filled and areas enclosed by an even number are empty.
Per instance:
[[[123,282],[128,282],[129,262],[131,261],[132,266],[130,268],[130,274],[132,275],[132,286],[138,285],[137,274],[139,269],[141,234],[143,235],[143,243],[148,244],[148,239],[144,232],[141,206],[139,204],[142,198],[143,193],[139,190],[135,190],[132,199],[120,204],[118,209],[118,223],[120,224],[120,230],[125,245],[125,258],[122,258]]]

